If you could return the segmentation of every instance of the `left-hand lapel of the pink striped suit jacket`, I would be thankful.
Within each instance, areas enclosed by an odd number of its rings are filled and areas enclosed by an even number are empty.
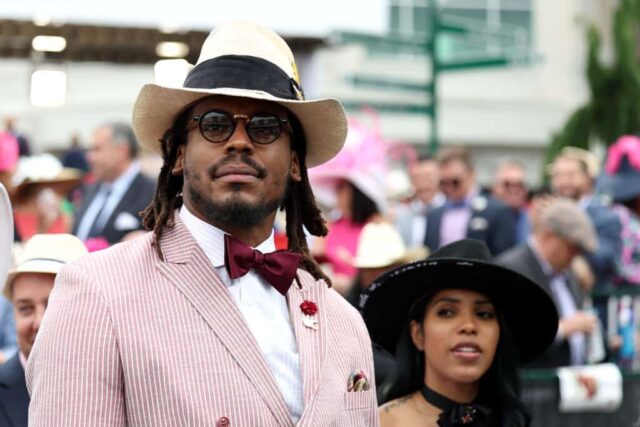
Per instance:
[[[160,272],[191,302],[236,360],[271,410],[278,425],[291,426],[291,417],[253,334],[229,291],[187,228],[174,215],[175,226],[165,229]]]

